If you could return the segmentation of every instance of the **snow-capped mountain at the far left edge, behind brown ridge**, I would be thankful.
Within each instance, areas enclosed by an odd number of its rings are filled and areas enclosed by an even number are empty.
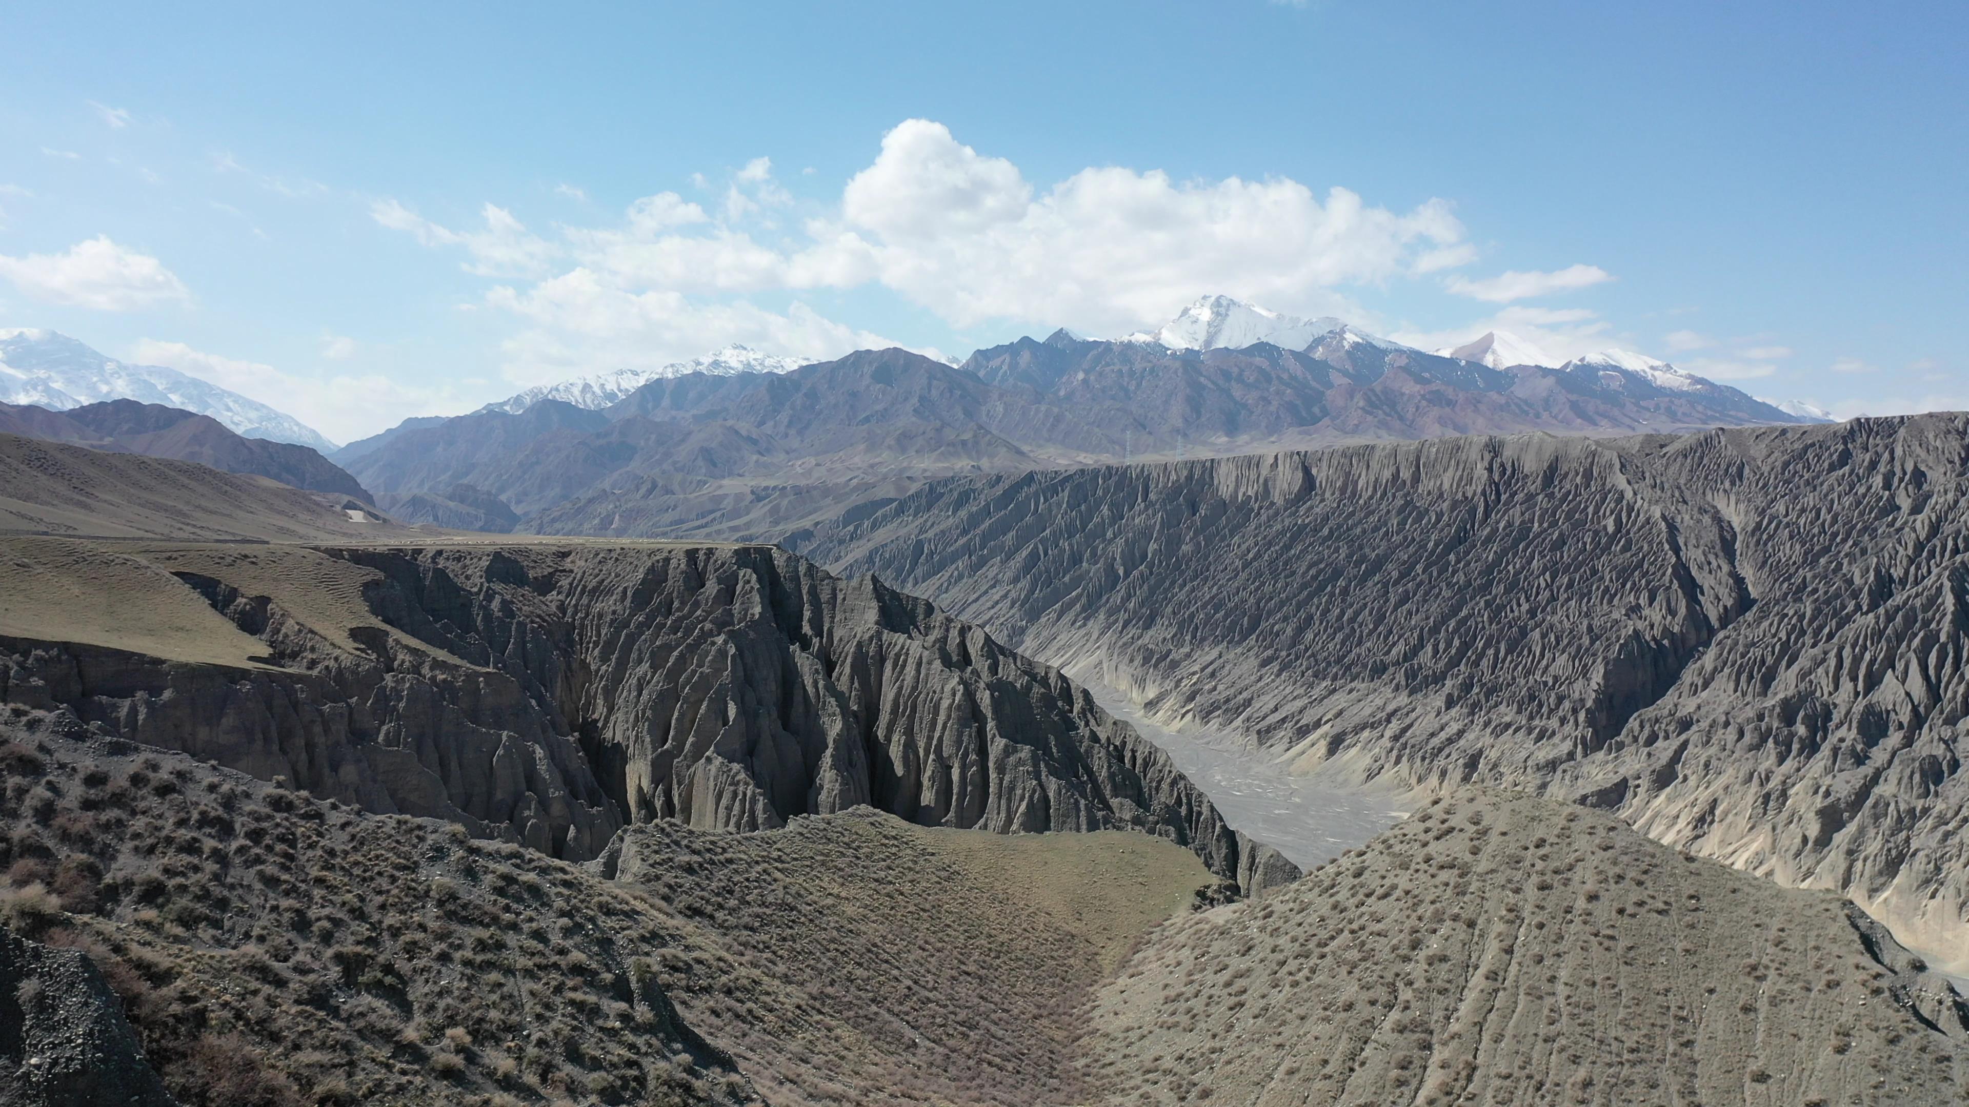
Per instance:
[[[102,400],[138,400],[211,416],[226,429],[291,441],[321,453],[335,443],[286,412],[161,364],[128,364],[33,327],[0,329],[0,404],[67,412]]]

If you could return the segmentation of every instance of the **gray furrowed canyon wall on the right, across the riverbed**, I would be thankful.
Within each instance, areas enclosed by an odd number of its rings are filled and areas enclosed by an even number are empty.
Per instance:
[[[1500,782],[1969,965],[1969,416],[941,481],[803,550],[1303,768]]]

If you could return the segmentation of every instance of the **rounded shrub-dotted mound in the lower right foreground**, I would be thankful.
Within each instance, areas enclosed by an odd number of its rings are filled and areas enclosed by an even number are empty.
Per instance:
[[[1158,930],[1091,1012],[1105,1103],[1961,1103],[1969,1007],[1837,896],[1459,792]]]

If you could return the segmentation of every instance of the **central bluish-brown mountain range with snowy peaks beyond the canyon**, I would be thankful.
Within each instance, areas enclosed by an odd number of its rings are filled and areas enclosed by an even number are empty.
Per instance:
[[[1233,345],[1252,335],[1305,341]],[[630,378],[573,382],[561,388],[573,400],[543,392],[526,406],[417,420],[335,461],[413,522],[776,540],[967,473],[1455,433],[1806,422],[1620,351],[1496,368],[1229,297],[1205,297],[1152,335],[1055,331],[977,351],[961,366],[900,349],[770,372],[746,364],[766,362],[685,364],[601,408],[591,404]]]

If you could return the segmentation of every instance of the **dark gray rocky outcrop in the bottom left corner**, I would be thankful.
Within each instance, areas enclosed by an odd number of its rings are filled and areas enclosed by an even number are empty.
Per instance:
[[[0,1107],[175,1107],[79,949],[0,926]]]

